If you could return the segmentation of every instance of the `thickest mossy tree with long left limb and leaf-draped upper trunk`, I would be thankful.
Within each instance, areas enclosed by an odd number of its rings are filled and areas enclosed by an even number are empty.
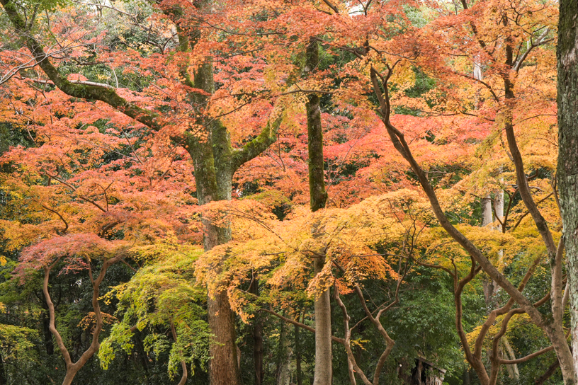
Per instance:
[[[120,96],[114,87],[95,84],[91,81],[70,81],[62,74],[50,59],[50,48],[35,38],[30,32],[35,30],[35,11],[44,11],[44,4],[33,4],[33,15],[28,19],[26,4],[15,1],[2,1],[5,14],[18,35],[22,46],[26,46],[35,59],[35,64],[42,69],[48,81],[62,92],[74,98],[100,100],[121,113],[135,119],[152,130],[163,132],[173,137],[183,148],[187,149],[193,161],[195,173],[196,194],[200,205],[213,200],[228,200],[231,197],[232,176],[243,163],[253,159],[264,151],[276,138],[280,119],[273,116],[266,122],[254,139],[242,143],[239,149],[234,149],[227,127],[218,119],[205,115],[205,105],[215,91],[213,67],[210,61],[210,45],[203,46],[200,38],[206,37],[200,27],[209,16],[210,2],[199,3],[185,8],[182,4],[160,4],[159,8],[166,18],[176,26],[179,35],[179,45],[176,52],[182,58],[195,57],[197,62],[188,66],[186,60],[177,64],[177,81],[184,90],[181,95],[183,103],[177,103],[181,110],[179,118],[185,117],[188,126],[174,130],[173,117],[163,117],[161,113],[143,108],[139,103]],[[50,8],[50,7],[49,7]],[[200,23],[199,23],[200,21]],[[200,57],[198,56],[200,55]],[[180,79],[179,79],[180,78]],[[273,114],[276,115],[276,114]],[[188,127],[194,127],[194,130]],[[196,131],[196,132],[195,132]],[[229,241],[230,231],[227,226],[216,227],[204,222],[205,250]],[[229,308],[225,293],[210,293],[208,301],[209,324],[215,335],[212,344],[211,383],[237,384],[239,368],[234,347],[235,331],[233,314]]]

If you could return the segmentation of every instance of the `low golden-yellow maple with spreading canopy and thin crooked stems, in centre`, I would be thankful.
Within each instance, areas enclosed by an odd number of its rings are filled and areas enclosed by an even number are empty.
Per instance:
[[[380,372],[394,345],[394,341],[380,323],[380,317],[399,301],[397,292],[399,292],[402,280],[412,268],[412,258],[414,258],[412,253],[414,253],[414,248],[418,247],[414,243],[420,231],[416,230],[416,226],[419,225],[415,222],[421,215],[425,214],[428,217],[429,210],[424,209],[424,206],[423,199],[420,200],[410,191],[401,190],[391,195],[369,198],[367,202],[361,202],[348,209],[318,210],[311,214],[296,212],[293,219],[281,223],[276,221],[271,214],[265,217],[263,214],[259,215],[259,212],[252,206],[251,211],[246,209],[246,205],[232,206],[228,209],[215,207],[216,215],[227,213],[227,217],[218,220],[228,219],[236,223],[233,229],[239,234],[234,232],[234,242],[213,248],[210,255],[201,260],[203,266],[200,270],[201,277],[211,285],[227,287],[229,298],[234,299],[232,305],[242,317],[247,318],[251,314],[247,313],[244,307],[249,306],[248,311],[251,311],[251,301],[257,301],[257,303],[269,301],[271,306],[272,302],[287,300],[278,291],[294,285],[293,280],[297,275],[302,280],[305,275],[304,268],[311,265],[309,260],[322,259],[323,262],[320,263],[319,268],[314,267],[314,277],[310,279],[307,292],[312,293],[317,301],[319,296],[329,293],[329,287],[335,286],[336,299],[344,311],[346,334],[345,338],[330,334],[330,338],[345,346],[351,363],[350,377],[354,377],[354,372],[363,374],[363,371],[351,352],[349,316],[339,292],[356,293],[365,311],[365,318],[372,321],[387,345],[378,360],[373,376],[373,383],[378,384]],[[408,210],[408,212],[402,210]],[[404,220],[399,219],[397,215],[405,217]],[[234,221],[239,217],[241,219]],[[251,230],[256,221],[266,229],[265,234]],[[421,226],[421,229],[423,228],[424,226]],[[244,238],[249,238],[250,241]],[[394,239],[399,240],[394,241]],[[371,246],[375,246],[375,243],[380,241],[387,241],[391,244],[388,253],[375,253],[372,250]],[[407,255],[392,254],[398,250],[399,253],[407,253]],[[263,253],[263,251],[267,252]],[[389,256],[397,258],[399,271],[395,271],[385,259]],[[273,268],[278,265],[279,257],[283,258],[283,264]],[[220,275],[211,266],[217,265],[223,258],[227,258],[228,266],[226,272]],[[333,265],[341,272],[342,277],[334,277],[334,273],[331,272]],[[248,277],[248,271],[253,272],[251,282],[259,280],[262,281],[262,285],[269,287],[266,294],[263,294],[263,299],[256,298],[255,294],[239,290],[239,285],[242,285],[243,280]],[[374,316],[373,311],[365,305],[365,297],[358,282],[368,278],[387,280],[390,277],[395,282],[396,294],[391,303],[379,309],[378,315]],[[303,283],[298,285],[303,285]],[[307,331],[313,331],[316,335],[319,333],[319,327],[323,327],[317,323],[317,309],[315,328],[282,316],[272,309],[258,308],[258,310],[278,316]],[[363,376],[363,381],[370,383],[365,376]]]

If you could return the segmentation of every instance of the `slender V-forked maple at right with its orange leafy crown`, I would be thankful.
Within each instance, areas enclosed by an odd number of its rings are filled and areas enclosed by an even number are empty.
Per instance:
[[[527,69],[523,67],[523,64],[526,63],[528,57],[531,57],[532,52],[535,52],[540,46],[551,41],[551,39],[548,38],[548,35],[551,30],[550,25],[552,24],[551,16],[553,14],[553,6],[548,4],[548,7],[543,7],[542,4],[523,2],[516,6],[516,12],[518,12],[516,14],[519,15],[519,17],[514,18],[514,16],[509,16],[509,8],[507,5],[502,6],[502,4],[494,4],[494,6],[487,8],[483,5],[484,4],[479,3],[470,9],[470,4],[463,1],[462,15],[459,14],[460,12],[458,8],[455,8],[455,13],[458,13],[456,17],[448,16],[448,18],[444,18],[443,21],[441,21],[441,24],[432,23],[433,30],[436,31],[433,35],[436,37],[438,36],[438,39],[430,39],[429,41],[416,38],[416,35],[418,35],[416,28],[414,28],[411,23],[408,23],[407,15],[401,11],[401,8],[397,8],[397,4],[389,7],[382,5],[381,8],[378,4],[373,4],[373,6],[362,6],[363,10],[359,10],[359,16],[355,18],[355,21],[353,21],[354,18],[351,18],[349,14],[347,14],[346,17],[339,18],[341,25],[338,23],[337,25],[339,25],[339,27],[332,28],[332,32],[340,38],[340,40],[337,40],[339,43],[336,45],[336,48],[356,54],[358,59],[360,59],[360,62],[365,61],[373,63],[372,60],[375,60],[375,64],[368,64],[368,66],[370,67],[370,79],[373,83],[375,96],[380,104],[380,117],[382,122],[384,122],[387,132],[397,151],[399,151],[399,154],[401,154],[411,164],[412,171],[416,175],[417,180],[419,180],[422,188],[424,188],[426,194],[429,196],[433,209],[436,212],[441,225],[448,231],[448,233],[454,236],[458,243],[461,243],[467,251],[472,253],[472,258],[475,259],[476,263],[480,263],[481,268],[483,268],[492,279],[501,284],[513,299],[521,303],[523,310],[527,311],[528,314],[531,315],[533,321],[543,327],[545,333],[547,333],[550,340],[552,340],[558,357],[562,362],[562,372],[564,372],[565,379],[567,379],[567,381],[572,381],[572,370],[568,366],[570,363],[570,350],[565,342],[564,333],[562,332],[562,309],[564,304],[561,294],[563,285],[561,270],[562,253],[560,251],[557,252],[557,248],[553,241],[553,235],[548,228],[548,224],[543,217],[543,214],[538,210],[536,202],[533,201],[531,188],[528,186],[526,176],[523,175],[524,165],[519,146],[516,143],[516,135],[514,133],[515,112],[517,112],[517,108],[519,108],[520,105],[523,105],[516,100],[514,86],[521,87],[522,96],[519,96],[519,100],[532,100],[531,97],[525,93],[527,89],[524,88],[524,85],[526,84],[524,83],[525,79],[522,80],[523,77],[520,74],[526,74]],[[329,7],[331,8],[331,4],[329,4]],[[339,6],[334,6],[333,9],[334,11],[339,12]],[[375,11],[377,9],[380,9],[381,13]],[[495,13],[496,11],[498,12]],[[378,15],[381,15],[383,12],[390,14],[392,20],[395,21],[395,23],[392,24],[391,30],[387,30],[387,28],[383,27],[381,28],[385,29],[385,32],[384,30],[378,30],[378,28],[372,29],[372,25],[380,25],[380,23],[378,21],[371,23],[371,17],[378,18]],[[504,33],[497,31],[492,32],[492,30],[489,29],[491,27],[482,25],[481,21],[485,20],[485,17],[482,17],[482,14],[488,12],[492,13],[492,17],[494,17],[494,14],[498,15],[497,20],[499,20],[499,22],[497,22],[497,25],[502,24],[502,26],[506,27]],[[541,16],[535,18],[536,12],[542,12],[540,14]],[[461,17],[465,15],[475,15],[476,18]],[[365,16],[365,20],[363,16]],[[510,21],[510,19],[513,21]],[[311,20],[312,18],[310,18],[309,21]],[[331,23],[335,25],[335,20],[332,19]],[[345,25],[350,29],[346,30],[346,28],[344,28]],[[453,30],[450,30],[451,32],[449,35],[446,34],[448,33],[448,30],[446,30],[445,25],[451,25],[451,27],[454,28]],[[357,35],[354,35],[354,37],[351,38],[351,35],[348,35],[348,33],[354,28],[357,28]],[[482,29],[483,32],[480,32]],[[424,28],[424,32],[425,30],[429,29]],[[454,34],[455,31],[457,31],[457,34]],[[431,38],[433,35],[428,36]],[[463,42],[465,35],[468,36],[466,40],[471,39],[472,45],[453,45],[454,41]],[[490,35],[497,36],[501,41],[504,41],[504,44],[499,45],[499,49],[495,50],[487,48],[488,42],[485,42],[485,38]],[[469,36],[471,36],[471,38],[469,38]],[[363,38],[365,38],[365,41],[362,40]],[[447,50],[439,45],[434,47],[434,45],[431,44],[433,41],[448,41],[446,40],[448,38],[450,40],[448,47],[446,47]],[[452,40],[453,38],[455,38],[455,40]],[[331,41],[331,39],[324,40],[327,45],[331,45]],[[523,44],[526,42],[528,42],[528,44]],[[514,47],[515,45],[517,48]],[[517,51],[514,52],[515,50]],[[464,69],[461,67],[459,61],[449,61],[451,64],[455,64],[455,67],[453,67],[453,65],[446,66],[448,61],[443,57],[443,54],[452,55],[458,54],[458,52],[462,55],[465,54],[465,56],[471,55],[472,58],[469,63],[476,62],[477,55],[488,57],[490,67],[487,73],[491,75],[490,77],[492,79],[482,81],[481,79],[476,79],[475,76],[464,74]],[[440,54],[439,59],[434,59],[438,54]],[[420,58],[426,59],[422,62]],[[502,59],[506,62],[505,67],[500,64],[502,63]],[[531,304],[525,297],[521,296],[519,290],[511,285],[511,282],[504,280],[504,276],[499,272],[499,270],[489,263],[487,258],[480,253],[480,250],[477,249],[473,243],[467,241],[465,237],[460,235],[459,231],[455,230],[453,224],[448,221],[446,215],[443,213],[441,205],[437,200],[436,193],[428,180],[429,178],[427,174],[419,167],[419,164],[409,151],[409,146],[407,146],[407,142],[405,142],[404,135],[390,122],[390,116],[394,113],[394,110],[391,104],[392,99],[390,99],[390,90],[386,86],[388,81],[392,80],[392,74],[395,73],[403,76],[405,73],[403,67],[402,69],[397,67],[398,64],[399,66],[406,66],[405,68],[407,68],[408,64],[414,64],[424,69],[433,69],[434,71],[437,71],[438,74],[444,74],[441,76],[441,79],[449,81],[450,84],[460,84],[460,81],[457,81],[458,79],[470,79],[489,91],[489,100],[491,100],[491,103],[494,103],[494,109],[488,112],[496,114],[495,116],[499,117],[500,122],[502,120],[505,122],[504,127],[506,139],[509,144],[508,151],[511,156],[511,161],[514,163],[518,192],[521,194],[524,204],[528,207],[528,212],[532,215],[537,224],[538,232],[543,237],[545,247],[548,250],[549,260],[553,263],[551,268],[553,282],[552,295],[555,298],[552,307],[553,314],[555,314],[555,321],[553,323],[545,323],[545,320],[538,311],[536,311],[533,304]],[[397,67],[397,72],[394,72],[395,67]],[[359,78],[366,76],[363,69],[358,71],[358,76]],[[519,76],[519,78],[516,76]],[[397,79],[395,79],[395,81],[397,81]],[[495,88],[500,88],[502,91],[497,92]],[[449,88],[446,91],[446,96],[452,92]],[[455,93],[455,97],[455,102],[461,100],[459,93]],[[427,107],[426,111],[431,110],[431,106]],[[443,108],[450,108],[450,104],[444,103]],[[460,113],[468,113],[467,110],[464,111],[459,108],[455,109],[460,111]],[[443,110],[441,112],[443,113]],[[494,120],[493,117],[488,115],[480,114],[480,117],[488,118],[490,121]],[[528,117],[528,119],[531,118],[533,117]],[[538,260],[536,260],[536,263],[538,263],[541,258],[543,258],[543,255],[540,255]],[[472,265],[472,268],[475,269],[475,265]],[[531,271],[528,272],[528,274],[531,275]],[[538,302],[538,304],[540,303],[541,302]],[[509,306],[506,306],[506,308],[500,311],[509,311]],[[496,340],[499,340],[499,338]],[[466,345],[465,341],[464,345]],[[494,349],[494,355],[497,355],[497,349]],[[495,373],[492,374],[491,378],[485,377],[483,375],[484,371],[482,370],[482,365],[478,363],[477,367],[480,369],[482,381],[495,381]]]

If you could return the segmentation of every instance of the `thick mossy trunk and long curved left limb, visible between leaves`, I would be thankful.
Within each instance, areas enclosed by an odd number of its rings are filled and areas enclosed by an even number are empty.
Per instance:
[[[210,0],[198,1],[195,6],[197,8],[210,8],[212,6],[211,3],[212,1]],[[40,69],[60,91],[74,98],[100,100],[155,131],[162,130],[164,123],[159,120],[161,115],[156,111],[147,110],[131,103],[119,96],[111,88],[74,84],[68,81],[66,76],[62,75],[57,67],[52,64],[50,57],[47,57],[42,43],[28,33],[29,31],[26,30],[28,21],[25,21],[26,18],[18,13],[18,9],[13,6],[11,0],[0,0],[0,4],[6,11],[6,16],[11,21],[13,28],[18,33],[21,33],[22,36],[26,36],[23,42],[26,43],[28,50],[33,54]],[[178,6],[164,8],[164,12],[166,16],[169,16],[174,21],[177,27],[179,50],[181,52],[191,51],[200,38],[200,30],[195,28],[194,25],[187,25],[186,28],[179,27],[181,12]],[[29,22],[33,23],[33,21]],[[191,76],[189,76],[186,69],[182,71],[182,75],[185,86],[205,91],[203,94],[192,91],[188,95],[191,105],[197,109],[198,113],[200,112],[197,116],[203,116],[203,110],[214,91],[212,62],[208,60],[201,64],[196,69],[194,76],[192,76],[192,82]],[[184,142],[193,159],[199,205],[215,200],[228,200],[231,197],[231,180],[234,171],[246,161],[261,154],[275,141],[276,130],[278,130],[280,125],[280,117],[277,117],[274,122],[268,122],[256,138],[244,144],[242,149],[237,149],[234,154],[227,129],[222,126],[220,121],[203,120],[201,117],[197,122],[205,130],[203,133],[206,134],[206,140],[200,141],[198,137],[187,133],[183,135],[183,138],[179,138],[179,143]],[[217,227],[210,224],[207,219],[203,219],[203,230],[203,242],[207,251],[231,239],[228,226]],[[220,269],[219,266],[217,266],[218,269]],[[211,293],[208,298],[208,311],[209,326],[212,333],[215,334],[215,343],[211,344],[210,347],[212,357],[210,362],[211,384],[237,385],[239,384],[239,364],[237,362],[237,348],[234,343],[235,324],[227,295],[223,292]],[[53,325],[51,326],[51,331],[57,335]],[[98,340],[96,342],[98,343]],[[69,384],[67,381],[65,380],[64,384]]]

